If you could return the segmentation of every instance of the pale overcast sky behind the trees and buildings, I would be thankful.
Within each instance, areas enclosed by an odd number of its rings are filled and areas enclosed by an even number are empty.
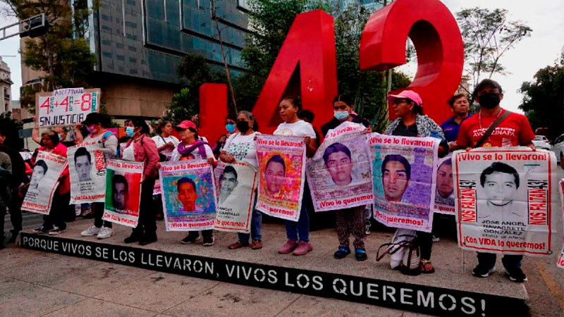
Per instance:
[[[522,82],[533,80],[534,73],[540,68],[552,65],[560,55],[564,46],[564,0],[444,0],[446,6],[455,13],[461,8],[479,6],[482,8],[505,8],[510,13],[510,20],[522,20],[533,29],[531,37],[527,37],[518,43],[513,50],[508,51],[502,58],[501,63],[510,72],[510,75],[495,75],[492,79],[497,80],[505,92],[502,106],[512,111],[517,111],[521,103],[522,95],[517,92]],[[3,4],[0,3],[0,6]],[[0,26],[7,25],[2,17]],[[12,95],[13,99],[19,99],[21,86],[19,37],[12,37],[0,42],[0,56],[12,72]],[[413,66],[403,66],[402,69],[408,73],[415,73]]]

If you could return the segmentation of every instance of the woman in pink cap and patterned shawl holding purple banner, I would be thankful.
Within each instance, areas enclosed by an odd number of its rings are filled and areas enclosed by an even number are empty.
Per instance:
[[[398,118],[393,120],[386,135],[400,135],[403,137],[437,137],[441,139],[439,146],[439,157],[448,154],[448,143],[441,127],[434,120],[423,115],[422,99],[417,92],[404,90],[400,94],[389,95],[388,101],[393,103],[393,110]],[[421,273],[434,273],[431,265],[431,249],[433,247],[433,235],[431,232],[417,231],[417,240],[421,250]]]

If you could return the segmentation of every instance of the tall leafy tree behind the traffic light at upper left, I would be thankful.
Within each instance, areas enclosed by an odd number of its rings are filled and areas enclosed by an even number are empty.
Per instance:
[[[25,39],[22,63],[44,73],[44,90],[67,87],[89,87],[96,57],[84,38],[90,13],[85,1],[2,0],[20,19],[45,13],[49,31],[35,39]],[[73,36],[76,35],[76,36]]]

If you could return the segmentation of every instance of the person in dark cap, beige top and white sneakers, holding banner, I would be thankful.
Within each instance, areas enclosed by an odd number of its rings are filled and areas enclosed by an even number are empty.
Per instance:
[[[111,119],[101,113],[88,113],[82,125],[86,127],[90,135],[84,138],[81,144],[98,144],[99,150],[104,153],[104,164],[108,159],[116,157],[118,148],[118,137],[111,131],[106,130],[110,124]],[[104,216],[104,203],[92,203],[94,209],[94,225],[91,225],[86,230],[82,231],[82,237],[90,237],[96,235],[98,239],[107,239],[114,235],[114,230],[111,228],[111,222],[102,220]]]

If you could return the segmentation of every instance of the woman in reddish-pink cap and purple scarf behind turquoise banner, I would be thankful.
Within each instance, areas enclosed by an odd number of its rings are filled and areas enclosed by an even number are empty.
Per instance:
[[[184,120],[176,126],[176,130],[180,134],[180,143],[174,149],[171,161],[188,161],[196,159],[207,160],[212,166],[216,166],[216,159],[214,152],[209,144],[198,137],[198,130],[190,120]],[[192,192],[195,192],[194,184],[192,183]],[[192,199],[193,200],[193,199]],[[193,203],[195,201],[191,201]],[[182,244],[190,244],[195,242],[200,235],[197,231],[190,231],[183,240]],[[204,238],[204,247],[214,245],[214,231],[212,229],[202,230],[202,237]]]

